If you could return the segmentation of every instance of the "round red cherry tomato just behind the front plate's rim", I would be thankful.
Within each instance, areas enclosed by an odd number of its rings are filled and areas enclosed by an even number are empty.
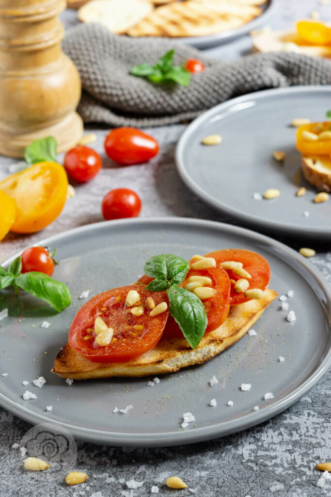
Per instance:
[[[138,217],[141,210],[139,196],[129,188],[116,188],[110,190],[102,201],[102,215],[106,221]]]

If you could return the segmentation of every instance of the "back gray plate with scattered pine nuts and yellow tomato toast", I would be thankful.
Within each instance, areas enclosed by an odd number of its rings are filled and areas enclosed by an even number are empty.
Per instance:
[[[300,169],[295,149],[295,117],[311,121],[325,118],[331,86],[296,86],[258,91],[234,98],[202,114],[186,129],[176,152],[179,173],[205,202],[242,222],[289,235],[331,238],[331,201],[314,204],[316,188],[305,179],[304,197],[296,197],[294,184]],[[220,134],[218,146],[201,145],[211,134]],[[284,165],[272,158],[286,153]],[[272,200],[254,200],[278,188]],[[309,212],[309,217],[303,213]]]

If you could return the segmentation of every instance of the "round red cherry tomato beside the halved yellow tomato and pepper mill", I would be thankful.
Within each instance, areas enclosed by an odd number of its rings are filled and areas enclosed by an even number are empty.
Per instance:
[[[102,161],[95,150],[79,145],[66,153],[64,165],[70,178],[86,183],[98,174]]]

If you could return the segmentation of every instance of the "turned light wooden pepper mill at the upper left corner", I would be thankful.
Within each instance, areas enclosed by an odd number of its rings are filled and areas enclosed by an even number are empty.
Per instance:
[[[58,152],[77,144],[79,74],[61,50],[65,0],[0,0],[0,154],[23,157],[54,136]]]

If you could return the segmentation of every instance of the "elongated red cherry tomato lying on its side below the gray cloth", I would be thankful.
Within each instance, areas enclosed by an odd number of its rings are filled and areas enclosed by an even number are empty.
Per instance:
[[[159,151],[157,141],[136,128],[116,128],[106,136],[105,151],[110,159],[130,166],[147,162]]]

